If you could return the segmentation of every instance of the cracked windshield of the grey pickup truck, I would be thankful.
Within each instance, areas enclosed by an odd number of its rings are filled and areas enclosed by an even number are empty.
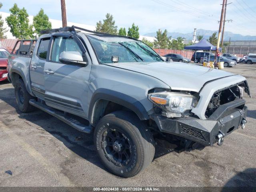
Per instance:
[[[118,37],[98,37],[87,35],[100,63],[112,63],[112,56],[118,62],[159,62],[162,58],[146,44]]]

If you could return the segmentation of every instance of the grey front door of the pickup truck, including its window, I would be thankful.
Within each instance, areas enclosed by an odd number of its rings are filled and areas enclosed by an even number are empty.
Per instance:
[[[86,67],[63,64],[59,56],[70,51],[89,58],[88,53],[76,36],[55,35],[52,41],[52,51],[44,66],[46,104],[87,119],[91,62]]]

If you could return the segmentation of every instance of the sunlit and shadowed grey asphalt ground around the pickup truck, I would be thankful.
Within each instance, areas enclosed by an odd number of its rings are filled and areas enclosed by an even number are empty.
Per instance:
[[[256,186],[256,65],[224,70],[248,80],[245,129],[201,151],[177,153],[159,144],[151,165],[126,179],[102,166],[92,135],[40,110],[19,112],[12,84],[0,82],[0,186]]]

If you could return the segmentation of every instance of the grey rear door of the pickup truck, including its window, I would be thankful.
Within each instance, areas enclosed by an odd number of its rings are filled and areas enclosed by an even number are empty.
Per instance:
[[[48,53],[50,37],[40,39],[30,62],[30,80],[32,92],[44,100],[44,64]]]

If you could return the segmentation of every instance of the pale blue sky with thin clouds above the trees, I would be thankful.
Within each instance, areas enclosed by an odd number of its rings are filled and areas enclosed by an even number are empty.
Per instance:
[[[226,20],[233,22],[226,22],[226,30],[256,35],[256,1],[232,2],[227,7]],[[25,7],[30,15],[43,8],[49,18],[61,20],[60,0],[2,0],[0,11],[9,12],[14,3]],[[96,25],[110,13],[118,28],[128,28],[134,22],[140,34],[156,32],[159,28],[187,33],[194,28],[218,30],[221,3],[222,0],[66,0],[66,8],[70,22]]]

